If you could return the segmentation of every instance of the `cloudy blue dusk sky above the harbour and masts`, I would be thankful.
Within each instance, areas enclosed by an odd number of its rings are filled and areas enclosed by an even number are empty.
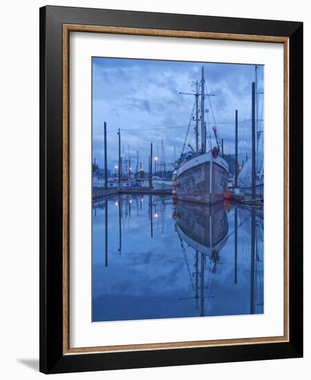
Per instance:
[[[234,153],[234,112],[238,109],[239,153],[250,147],[252,82],[255,66],[183,61],[155,61],[93,57],[93,160],[103,166],[103,124],[107,123],[109,168],[117,165],[117,131],[121,129],[122,155],[131,156],[132,166],[139,161],[147,169],[150,142],[153,154],[161,155],[164,142],[165,161],[173,162],[182,151],[194,106],[191,83],[200,81],[205,68],[207,91],[225,153]],[[263,92],[263,67],[258,69],[258,91]],[[258,95],[259,118],[263,118],[263,95]],[[214,121],[209,115],[209,128]],[[187,143],[194,146],[194,122],[191,122]],[[214,146],[214,139],[212,140]],[[209,142],[207,142],[209,147]],[[187,149],[189,150],[189,149]]]

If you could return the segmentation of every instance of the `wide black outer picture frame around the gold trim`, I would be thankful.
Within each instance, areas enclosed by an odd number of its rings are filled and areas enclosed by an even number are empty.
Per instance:
[[[44,373],[303,356],[303,23],[90,8],[40,8],[40,364]],[[63,354],[63,24],[187,30],[289,39],[289,341]]]

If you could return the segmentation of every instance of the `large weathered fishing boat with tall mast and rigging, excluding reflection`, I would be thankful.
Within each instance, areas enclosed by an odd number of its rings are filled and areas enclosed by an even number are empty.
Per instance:
[[[182,153],[180,158],[176,180],[176,194],[179,200],[188,202],[198,202],[205,205],[214,205],[223,200],[229,166],[220,153],[220,144],[216,125],[213,126],[216,137],[216,146],[210,151],[206,151],[207,130],[205,123],[205,97],[210,96],[205,92],[204,67],[202,67],[202,78],[199,84],[196,82],[196,150],[192,149],[188,154]],[[200,119],[198,117],[198,99],[200,97]],[[200,142],[198,123],[200,121]],[[190,124],[189,124],[190,125]],[[185,143],[184,143],[185,148]],[[183,149],[184,150],[184,149]]]

